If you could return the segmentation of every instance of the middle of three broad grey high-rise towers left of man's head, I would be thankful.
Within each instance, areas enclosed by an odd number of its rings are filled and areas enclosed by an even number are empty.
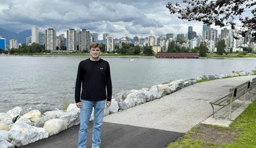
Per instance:
[[[67,50],[77,50],[76,31],[74,29],[67,30]]]

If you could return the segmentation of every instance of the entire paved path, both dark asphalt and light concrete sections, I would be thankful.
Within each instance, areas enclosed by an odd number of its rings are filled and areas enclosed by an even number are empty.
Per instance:
[[[196,83],[164,98],[104,117],[101,147],[162,148],[212,114],[209,102],[229,88],[256,76]],[[92,123],[88,132],[91,147]],[[79,126],[23,146],[25,148],[76,147]]]

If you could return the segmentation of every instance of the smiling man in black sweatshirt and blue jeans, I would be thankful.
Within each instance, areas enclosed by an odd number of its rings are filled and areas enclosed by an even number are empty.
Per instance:
[[[76,106],[80,108],[78,148],[86,147],[88,124],[92,108],[94,108],[92,147],[99,148],[104,108],[105,105],[110,107],[111,104],[112,83],[110,65],[107,61],[99,58],[101,49],[100,44],[92,43],[90,45],[90,58],[82,60],[77,70],[75,101]],[[82,94],[80,94],[81,83]]]

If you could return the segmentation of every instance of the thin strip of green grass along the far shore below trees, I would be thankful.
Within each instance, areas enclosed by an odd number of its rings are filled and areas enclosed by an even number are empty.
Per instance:
[[[90,56],[89,53],[31,53],[31,54],[13,54],[13,55],[29,55],[29,56]],[[114,53],[101,53],[101,56],[121,56],[121,57],[154,57],[147,56],[146,54],[114,54]]]

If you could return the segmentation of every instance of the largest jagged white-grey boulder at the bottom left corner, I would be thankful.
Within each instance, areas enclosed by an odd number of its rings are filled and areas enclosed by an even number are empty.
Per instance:
[[[30,126],[26,123],[14,124],[8,134],[8,141],[17,147],[46,138],[48,138],[48,132],[44,128]]]

